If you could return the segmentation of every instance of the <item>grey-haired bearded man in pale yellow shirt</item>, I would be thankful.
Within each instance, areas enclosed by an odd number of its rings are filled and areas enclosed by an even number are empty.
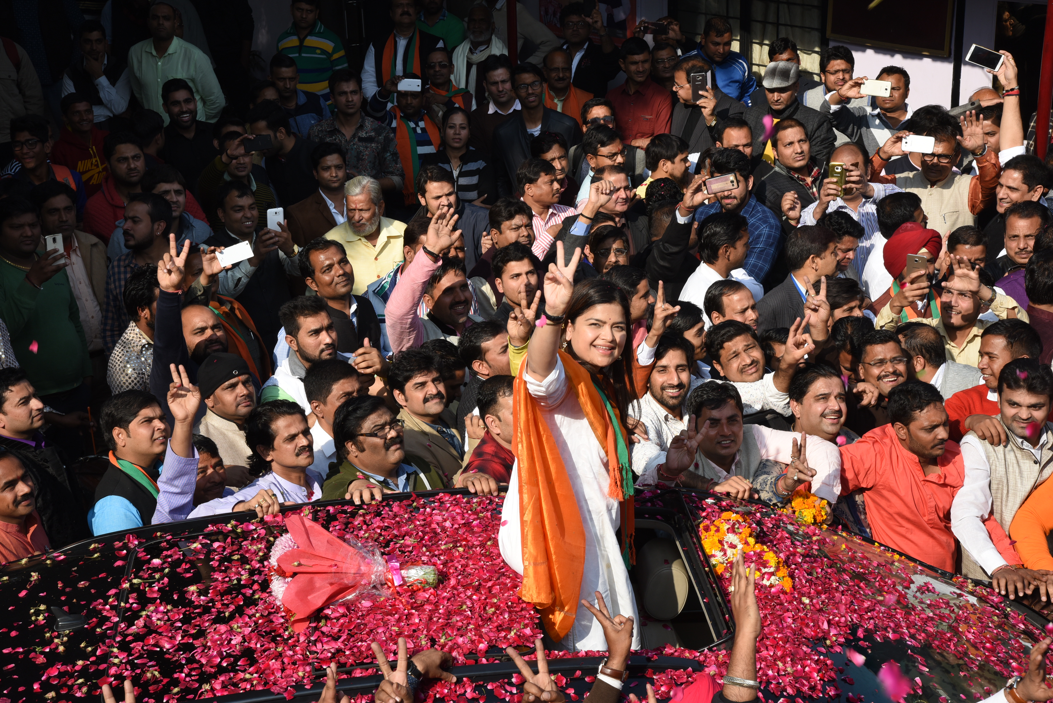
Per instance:
[[[355,271],[351,292],[364,295],[366,286],[386,276],[405,258],[402,252],[405,223],[383,216],[384,200],[376,178],[352,178],[344,184],[343,194],[347,219],[326,232],[325,238],[343,245]]]

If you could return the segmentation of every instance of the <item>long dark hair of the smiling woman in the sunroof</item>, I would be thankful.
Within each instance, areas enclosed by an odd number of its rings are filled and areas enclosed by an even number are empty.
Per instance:
[[[620,413],[621,425],[625,433],[630,434],[629,428],[625,427],[625,417],[629,413],[629,402],[636,397],[636,386],[633,383],[633,367],[630,360],[632,358],[630,355],[634,354],[635,350],[633,349],[633,329],[629,315],[629,298],[615,284],[601,278],[590,278],[574,287],[574,293],[571,295],[571,301],[567,306],[564,315],[567,323],[575,323],[590,308],[609,304],[621,306],[625,314],[625,345],[617,360],[607,368],[600,368],[581,360],[574,352],[572,344],[567,345],[565,351],[589,372],[593,380],[608,394],[608,398]]]

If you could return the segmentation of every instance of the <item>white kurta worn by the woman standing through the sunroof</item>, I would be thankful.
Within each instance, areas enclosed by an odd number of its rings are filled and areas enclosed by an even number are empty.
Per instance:
[[[607,495],[611,482],[607,452],[596,440],[577,396],[570,389],[561,359],[557,359],[556,368],[543,382],[534,379],[529,373],[524,373],[523,377],[526,379],[526,389],[537,399],[544,422],[556,441],[581,513],[585,532],[585,564],[580,598],[595,602],[594,591],[598,590],[603,594],[612,614],[632,616],[638,623],[640,619],[636,612],[633,587],[618,546],[620,504]],[[512,467],[509,492],[501,511],[498,544],[505,563],[521,574],[523,556],[518,464]],[[609,649],[603,628],[580,604],[574,626],[563,638],[562,645],[570,650]],[[633,648],[639,647],[637,627],[633,631]]]

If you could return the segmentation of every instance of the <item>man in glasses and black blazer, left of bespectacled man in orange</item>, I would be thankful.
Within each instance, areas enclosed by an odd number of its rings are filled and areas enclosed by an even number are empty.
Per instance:
[[[501,197],[514,195],[519,164],[531,158],[531,139],[542,132],[556,132],[571,145],[581,141],[577,120],[544,106],[544,75],[540,69],[533,63],[517,65],[512,70],[512,89],[522,109],[494,130],[491,148]]]

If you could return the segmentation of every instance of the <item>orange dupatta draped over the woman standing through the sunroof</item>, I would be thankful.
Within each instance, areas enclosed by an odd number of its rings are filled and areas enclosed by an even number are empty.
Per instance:
[[[645,378],[651,366],[640,367],[635,360],[635,349],[630,353],[633,375],[638,383],[638,376]],[[561,351],[559,357],[571,390],[577,396],[596,440],[607,452],[611,477],[608,496],[621,501],[622,546],[628,548],[635,561],[632,549],[633,496],[625,495],[625,487],[621,484],[615,436],[618,432],[628,441],[620,413],[617,408],[614,409],[619,419],[618,427],[614,427],[589,372],[570,354]],[[585,532],[563,458],[537,402],[526,390],[524,373],[526,360],[519,367],[513,398],[523,550],[523,585],[519,597],[540,609],[545,630],[558,642],[571,631],[578,609],[584,574]]]

